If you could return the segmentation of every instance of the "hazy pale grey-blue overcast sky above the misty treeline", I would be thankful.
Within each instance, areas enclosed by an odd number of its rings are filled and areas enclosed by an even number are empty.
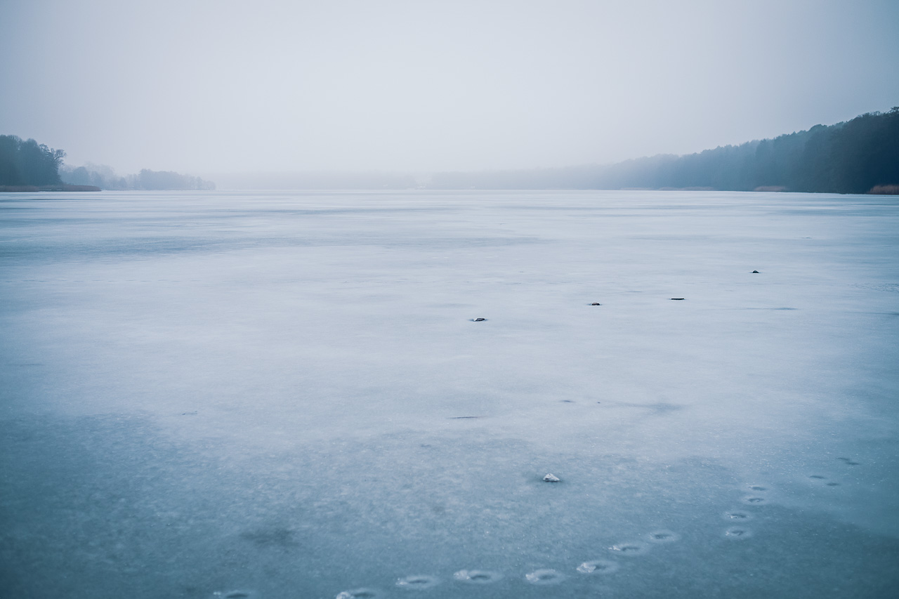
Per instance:
[[[191,174],[606,164],[899,104],[896,0],[0,0],[0,134]]]

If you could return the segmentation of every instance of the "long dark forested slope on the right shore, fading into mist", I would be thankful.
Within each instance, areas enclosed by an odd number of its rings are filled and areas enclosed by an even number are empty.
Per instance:
[[[899,106],[689,156],[652,156],[615,165],[438,173],[428,188],[899,193]]]

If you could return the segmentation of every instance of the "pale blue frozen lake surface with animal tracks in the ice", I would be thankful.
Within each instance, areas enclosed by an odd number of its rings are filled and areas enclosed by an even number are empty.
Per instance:
[[[5,193],[0,252],[4,597],[896,596],[895,197]]]

